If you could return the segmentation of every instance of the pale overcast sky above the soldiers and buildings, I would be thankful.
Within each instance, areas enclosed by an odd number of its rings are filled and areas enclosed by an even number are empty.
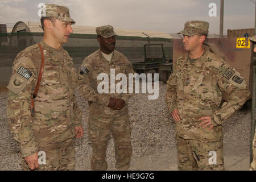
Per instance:
[[[252,2],[253,1],[253,2]],[[38,4],[68,6],[76,25],[176,33],[188,20],[210,23],[210,34],[219,34],[220,0],[0,0],[0,23],[39,22]],[[224,0],[224,34],[227,29],[254,28],[255,0]],[[217,16],[208,7],[216,3]]]

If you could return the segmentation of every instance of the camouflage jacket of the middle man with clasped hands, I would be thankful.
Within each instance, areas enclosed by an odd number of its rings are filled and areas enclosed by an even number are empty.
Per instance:
[[[128,84],[127,88],[124,88],[127,90],[127,93],[110,93],[110,69],[115,70],[115,76],[118,73],[124,73],[127,76],[127,80],[129,73],[135,73],[133,70],[133,65],[131,65],[130,61],[125,55],[114,50],[112,59],[108,61],[102,55],[100,49],[98,49],[88,57],[85,57],[79,70],[82,67],[86,68],[88,73],[79,73],[77,77],[77,89],[80,91],[80,94],[89,101],[89,104],[92,103],[92,105],[97,107],[97,109],[106,109],[109,104],[110,97],[121,98],[125,101],[125,105],[128,104],[129,98],[131,97],[131,94],[128,93]],[[106,75],[108,75],[108,93],[98,93],[97,91],[98,84],[102,82],[102,80],[97,79],[100,73],[106,73]],[[119,81],[115,80],[113,84],[116,85],[117,82]]]

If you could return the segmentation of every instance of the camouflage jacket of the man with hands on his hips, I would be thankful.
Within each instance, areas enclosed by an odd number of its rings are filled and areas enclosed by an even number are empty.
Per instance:
[[[174,63],[174,72],[167,82],[166,104],[182,118],[211,115],[214,126],[221,125],[245,103],[250,95],[236,69],[209,51],[190,63],[188,53]],[[220,107],[222,94],[229,95]]]

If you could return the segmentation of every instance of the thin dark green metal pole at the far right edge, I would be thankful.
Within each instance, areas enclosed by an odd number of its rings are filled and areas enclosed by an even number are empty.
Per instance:
[[[256,3],[255,3],[255,19],[254,19],[254,35],[256,35]],[[255,134],[255,104],[256,104],[256,57],[254,57],[253,53],[254,44],[251,44],[251,59],[253,63],[253,93],[251,96],[251,148],[250,148],[250,163],[253,162],[253,139]]]

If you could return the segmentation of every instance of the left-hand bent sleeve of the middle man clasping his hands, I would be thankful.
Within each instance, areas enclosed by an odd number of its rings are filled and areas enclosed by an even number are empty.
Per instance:
[[[98,93],[97,86],[93,84],[92,69],[90,69],[88,60],[85,58],[78,71],[77,90],[86,100],[98,105],[108,106],[110,96],[105,93]]]

